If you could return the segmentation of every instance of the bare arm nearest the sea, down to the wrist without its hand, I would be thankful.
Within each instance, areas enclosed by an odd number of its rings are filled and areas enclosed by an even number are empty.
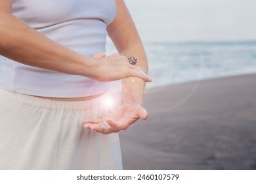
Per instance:
[[[148,62],[144,46],[140,40],[139,33],[129,14],[123,0],[116,0],[116,18],[108,26],[108,33],[114,42],[119,54],[129,57],[136,56],[138,65],[145,73],[148,73]],[[122,92],[125,103],[142,104],[145,83],[138,78],[125,78],[122,80]]]

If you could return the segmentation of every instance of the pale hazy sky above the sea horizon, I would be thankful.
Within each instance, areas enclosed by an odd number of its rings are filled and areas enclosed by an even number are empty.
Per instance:
[[[256,0],[126,0],[143,41],[256,40]]]

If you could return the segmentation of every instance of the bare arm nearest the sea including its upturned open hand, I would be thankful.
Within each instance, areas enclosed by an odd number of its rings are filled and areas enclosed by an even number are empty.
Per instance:
[[[116,6],[116,18],[112,24],[108,25],[108,34],[119,54],[125,57],[136,56],[139,65],[137,69],[141,68],[147,73],[148,62],[146,53],[131,15],[123,0],[116,0]],[[125,130],[139,119],[145,120],[148,114],[141,107],[144,87],[144,81],[139,78],[124,78],[122,80],[122,97],[125,98],[123,99],[123,105],[102,118],[84,120],[84,127],[108,134]],[[99,125],[102,123],[108,124],[104,125],[104,130],[102,125]]]

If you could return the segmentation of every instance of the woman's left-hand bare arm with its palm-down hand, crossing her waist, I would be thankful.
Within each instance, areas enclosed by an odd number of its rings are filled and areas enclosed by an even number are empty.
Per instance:
[[[26,65],[102,82],[129,76],[148,80],[147,75],[129,67],[122,56],[91,59],[45,37],[12,15],[11,0],[0,0],[0,54]]]

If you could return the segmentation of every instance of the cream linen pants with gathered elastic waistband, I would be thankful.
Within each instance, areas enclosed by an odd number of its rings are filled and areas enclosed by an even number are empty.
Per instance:
[[[117,133],[96,134],[83,119],[108,112],[104,95],[51,101],[0,89],[0,169],[122,169]]]

